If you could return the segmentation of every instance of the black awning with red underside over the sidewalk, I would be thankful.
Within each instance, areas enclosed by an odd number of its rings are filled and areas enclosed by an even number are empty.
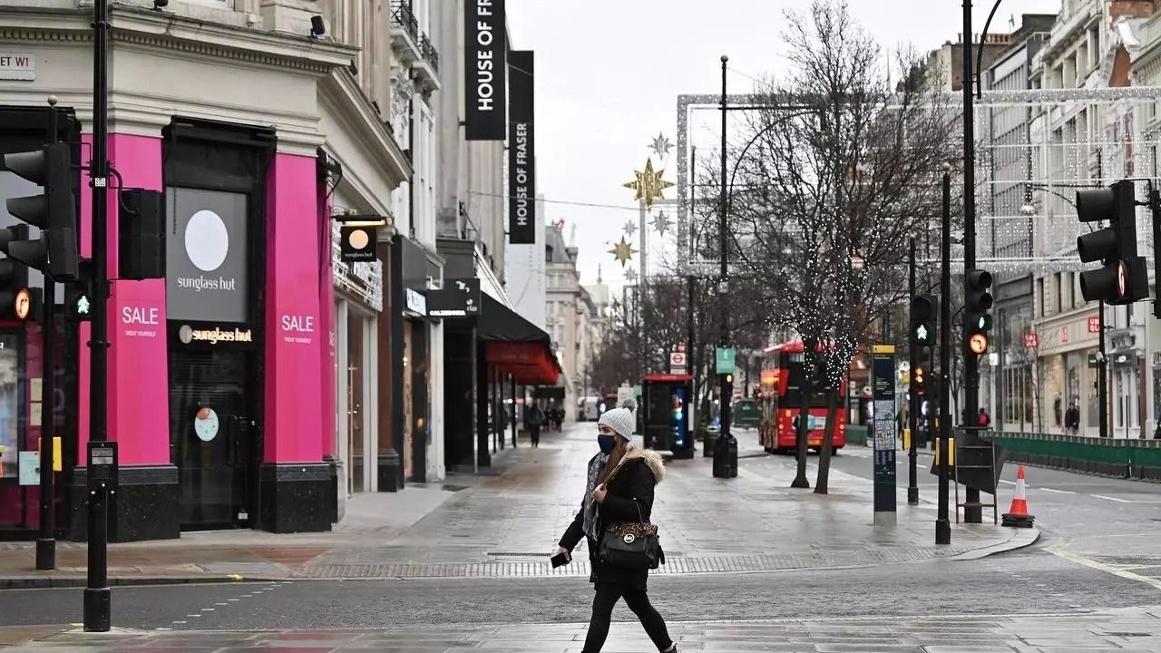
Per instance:
[[[514,376],[517,383],[553,386],[560,379],[561,365],[548,333],[486,294],[476,333],[485,343],[488,364]]]

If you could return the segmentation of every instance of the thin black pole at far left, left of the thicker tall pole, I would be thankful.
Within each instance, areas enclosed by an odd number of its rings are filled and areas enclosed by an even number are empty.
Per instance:
[[[49,143],[57,142],[57,99],[49,98]],[[56,435],[57,435],[57,366],[56,366],[56,308],[57,284],[44,273],[44,322],[41,364],[41,534],[36,539],[36,568],[57,568],[56,521]]]

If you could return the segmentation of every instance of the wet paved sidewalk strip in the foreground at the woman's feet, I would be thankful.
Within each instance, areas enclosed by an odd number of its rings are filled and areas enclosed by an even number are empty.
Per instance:
[[[577,653],[583,624],[412,626],[361,631],[135,632],[70,631],[12,653],[129,653],[132,651],[296,651],[349,653],[406,651],[524,651]],[[1161,619],[1155,609],[1123,609],[1088,615],[1012,617],[896,617],[890,619],[785,620],[767,623],[677,623],[670,637],[683,653],[1074,653],[1080,651],[1161,652]],[[613,625],[606,653],[652,651],[636,623]]]

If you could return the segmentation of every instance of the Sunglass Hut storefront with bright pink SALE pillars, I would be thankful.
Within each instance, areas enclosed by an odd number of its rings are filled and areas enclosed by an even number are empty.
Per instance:
[[[273,129],[181,117],[156,136],[111,135],[109,158],[124,187],[166,199],[166,279],[113,282],[108,431],[120,446],[121,488],[111,538],[330,529],[330,230],[319,163],[280,153]],[[80,174],[80,246],[88,256],[88,180]],[[85,468],[77,461],[88,439],[88,325],[65,329],[73,332],[53,365],[64,376],[57,510],[67,537],[82,539]],[[0,324],[0,345],[3,338]],[[38,332],[22,340],[17,385],[31,397],[44,357]],[[0,430],[3,419],[0,411]],[[37,437],[29,419],[17,425],[21,450],[35,451]],[[0,478],[0,532],[35,529],[37,488],[10,475]]]

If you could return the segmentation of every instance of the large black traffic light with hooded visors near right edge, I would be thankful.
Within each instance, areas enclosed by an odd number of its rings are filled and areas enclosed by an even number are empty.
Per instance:
[[[1109,221],[1109,227],[1076,237],[1081,263],[1101,261],[1099,270],[1081,272],[1084,301],[1111,304],[1133,303],[1148,296],[1145,259],[1137,256],[1137,200],[1132,181],[1108,188],[1076,192],[1076,218]]]

